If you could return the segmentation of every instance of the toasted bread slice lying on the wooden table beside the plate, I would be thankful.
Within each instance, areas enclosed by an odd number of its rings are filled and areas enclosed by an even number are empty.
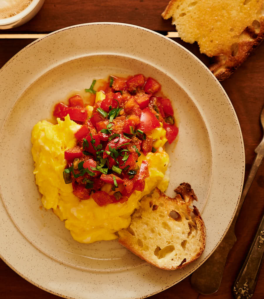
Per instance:
[[[213,57],[210,70],[224,80],[264,38],[263,0],[171,0],[162,13],[172,17],[179,37],[197,42]]]

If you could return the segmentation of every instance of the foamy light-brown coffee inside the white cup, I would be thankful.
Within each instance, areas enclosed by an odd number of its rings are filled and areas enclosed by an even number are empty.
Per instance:
[[[0,19],[6,19],[22,12],[32,0],[0,0]]]

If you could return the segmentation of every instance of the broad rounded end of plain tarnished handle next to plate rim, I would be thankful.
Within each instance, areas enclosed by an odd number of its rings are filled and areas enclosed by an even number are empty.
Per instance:
[[[210,295],[219,289],[228,253],[237,240],[234,226],[232,222],[213,254],[191,275],[191,285],[197,292]]]

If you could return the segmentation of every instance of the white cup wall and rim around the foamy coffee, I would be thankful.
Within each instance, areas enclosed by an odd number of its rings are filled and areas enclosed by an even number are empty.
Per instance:
[[[0,29],[10,29],[26,23],[39,12],[43,3],[44,0],[32,0],[32,2],[20,13],[9,18],[0,19]]]

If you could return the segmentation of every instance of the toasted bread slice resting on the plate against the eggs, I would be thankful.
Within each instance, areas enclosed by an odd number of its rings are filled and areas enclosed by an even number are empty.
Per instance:
[[[175,270],[196,260],[205,248],[205,225],[193,200],[190,184],[182,183],[170,198],[158,188],[144,196],[119,243],[148,263]]]

